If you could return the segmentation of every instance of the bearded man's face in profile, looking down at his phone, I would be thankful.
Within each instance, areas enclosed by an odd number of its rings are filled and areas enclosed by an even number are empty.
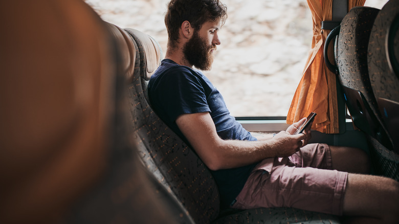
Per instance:
[[[217,36],[217,23],[205,23],[184,45],[183,53],[187,61],[200,70],[210,70],[213,63],[213,51],[220,44]]]

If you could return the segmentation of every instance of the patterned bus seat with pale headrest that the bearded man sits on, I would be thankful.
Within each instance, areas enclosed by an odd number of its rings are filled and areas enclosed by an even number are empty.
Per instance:
[[[196,153],[152,110],[146,95],[147,82],[162,56],[157,41],[138,30],[124,29],[137,50],[136,66],[128,76],[132,139],[145,167],[159,183],[178,198],[193,223],[258,223],[277,220],[290,223],[325,221],[339,223],[338,216],[292,208],[220,211],[213,177]]]

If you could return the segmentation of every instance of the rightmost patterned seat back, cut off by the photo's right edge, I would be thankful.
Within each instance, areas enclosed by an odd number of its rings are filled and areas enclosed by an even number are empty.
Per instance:
[[[381,172],[399,180],[399,1],[390,0],[376,16],[368,44],[368,71],[372,91],[393,151],[378,154]]]

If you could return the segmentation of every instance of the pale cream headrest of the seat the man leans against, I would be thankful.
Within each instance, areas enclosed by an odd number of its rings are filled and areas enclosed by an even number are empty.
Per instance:
[[[125,29],[125,31],[128,32],[136,41],[139,48],[140,57],[142,57],[141,55],[144,56],[144,59],[140,59],[140,63],[145,63],[145,72],[141,72],[140,75],[143,79],[149,80],[151,75],[157,70],[162,60],[162,49],[160,44],[151,36],[141,31],[135,29]],[[143,64],[140,66],[143,66]]]

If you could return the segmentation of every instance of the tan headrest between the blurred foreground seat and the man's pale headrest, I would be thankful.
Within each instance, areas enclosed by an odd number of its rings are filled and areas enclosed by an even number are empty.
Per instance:
[[[130,35],[126,33],[126,31],[114,24],[106,22],[105,24],[109,30],[110,35],[114,37],[119,47],[119,55],[121,58],[118,66],[121,66],[121,71],[123,71],[123,74],[125,74],[127,82],[130,83],[132,81],[132,75],[135,70],[135,44],[133,43]]]

